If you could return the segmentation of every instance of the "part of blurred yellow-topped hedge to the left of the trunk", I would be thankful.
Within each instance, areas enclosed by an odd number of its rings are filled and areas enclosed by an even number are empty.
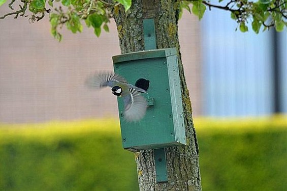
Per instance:
[[[0,190],[138,190],[115,120],[0,127]]]

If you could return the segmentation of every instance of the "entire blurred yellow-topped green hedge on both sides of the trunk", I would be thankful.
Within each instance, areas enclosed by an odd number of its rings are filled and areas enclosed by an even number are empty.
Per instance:
[[[203,190],[286,190],[286,116],[195,118]],[[138,190],[114,119],[0,124],[0,190]]]

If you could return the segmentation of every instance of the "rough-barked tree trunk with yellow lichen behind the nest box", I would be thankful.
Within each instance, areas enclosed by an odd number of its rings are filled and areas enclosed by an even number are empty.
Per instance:
[[[122,53],[144,50],[143,19],[154,18],[157,48],[176,47],[178,51],[186,146],[166,149],[168,182],[156,183],[153,150],[135,154],[140,190],[201,190],[199,155],[192,106],[181,61],[178,41],[176,0],[133,0],[127,12],[122,6],[111,8],[117,24]]]

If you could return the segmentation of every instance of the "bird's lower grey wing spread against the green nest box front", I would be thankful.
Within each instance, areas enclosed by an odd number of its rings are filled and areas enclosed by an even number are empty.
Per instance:
[[[147,103],[138,91],[131,89],[130,94],[123,97],[123,102],[123,114],[127,121],[139,121],[144,117]]]

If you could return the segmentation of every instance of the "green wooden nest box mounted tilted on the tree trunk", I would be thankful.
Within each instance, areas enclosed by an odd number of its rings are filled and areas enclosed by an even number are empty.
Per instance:
[[[114,71],[135,85],[150,81],[145,96],[148,108],[138,122],[125,121],[118,99],[123,148],[133,152],[185,145],[180,79],[175,48],[154,49],[113,57]]]

